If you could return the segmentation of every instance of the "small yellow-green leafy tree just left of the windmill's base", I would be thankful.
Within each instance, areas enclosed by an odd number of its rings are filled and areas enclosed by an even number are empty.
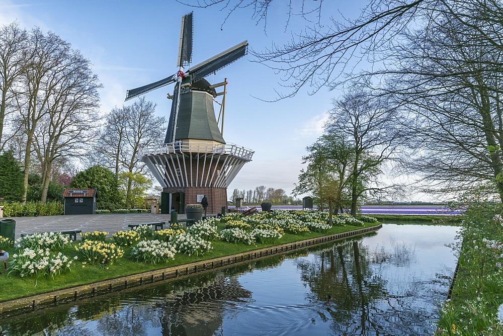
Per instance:
[[[119,191],[128,209],[144,206],[146,191],[151,187],[152,180],[140,173],[122,172],[119,174]]]

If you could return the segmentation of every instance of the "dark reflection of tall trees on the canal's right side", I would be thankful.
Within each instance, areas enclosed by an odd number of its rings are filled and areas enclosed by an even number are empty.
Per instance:
[[[311,289],[310,300],[325,301],[331,295],[330,305],[313,310],[323,321],[331,320],[335,334],[428,334],[428,314],[421,307],[403,306],[408,302],[390,293],[375,271],[379,264],[404,266],[414,258],[414,248],[405,244],[369,250],[361,242],[345,241],[317,251],[314,260],[299,259],[298,268]],[[397,290],[407,297],[414,288]]]

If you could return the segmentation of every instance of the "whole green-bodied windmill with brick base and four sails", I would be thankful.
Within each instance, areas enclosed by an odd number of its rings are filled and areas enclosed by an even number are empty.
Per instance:
[[[145,162],[163,188],[161,210],[184,212],[185,204],[198,203],[206,195],[210,213],[227,205],[227,187],[253,151],[223,139],[223,119],[227,78],[210,85],[204,78],[246,54],[247,41],[241,42],[202,63],[192,60],[192,13],[182,17],[177,73],[143,87],[128,90],[126,101],[175,83],[171,113],[164,143],[143,146]],[[184,71],[189,67],[187,71]],[[216,88],[223,86],[223,92]],[[214,98],[223,95],[218,121]],[[218,123],[221,127],[218,127]]]

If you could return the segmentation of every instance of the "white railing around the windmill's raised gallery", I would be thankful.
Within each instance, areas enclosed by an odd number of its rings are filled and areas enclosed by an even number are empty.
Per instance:
[[[138,156],[141,158],[144,155],[172,154],[181,152],[227,154],[237,156],[245,160],[251,160],[251,156],[255,153],[251,149],[237,146],[233,143],[213,144],[176,141],[172,143],[143,146],[140,148]]]

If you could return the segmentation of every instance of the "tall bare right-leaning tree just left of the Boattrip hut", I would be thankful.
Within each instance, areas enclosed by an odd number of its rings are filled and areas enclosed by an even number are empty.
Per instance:
[[[48,113],[37,124],[34,150],[42,167],[42,195],[45,202],[53,163],[79,156],[96,127],[101,85],[92,73],[89,60],[74,51],[58,73],[56,86],[47,102]]]

